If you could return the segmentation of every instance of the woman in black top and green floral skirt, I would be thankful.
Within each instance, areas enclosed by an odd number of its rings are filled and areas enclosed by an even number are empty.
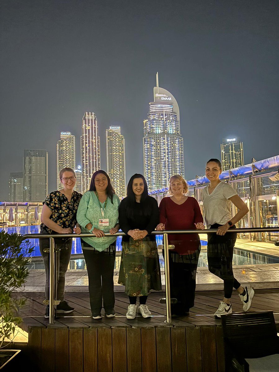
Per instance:
[[[156,199],[148,196],[147,183],[141,174],[134,174],[127,186],[127,197],[119,207],[119,225],[127,236],[122,237],[122,255],[118,283],[125,285],[130,305],[126,317],[134,319],[137,310],[144,318],[151,317],[146,300],[150,289],[160,291],[161,275],[155,235],[159,222]],[[137,296],[140,306],[137,306]]]

